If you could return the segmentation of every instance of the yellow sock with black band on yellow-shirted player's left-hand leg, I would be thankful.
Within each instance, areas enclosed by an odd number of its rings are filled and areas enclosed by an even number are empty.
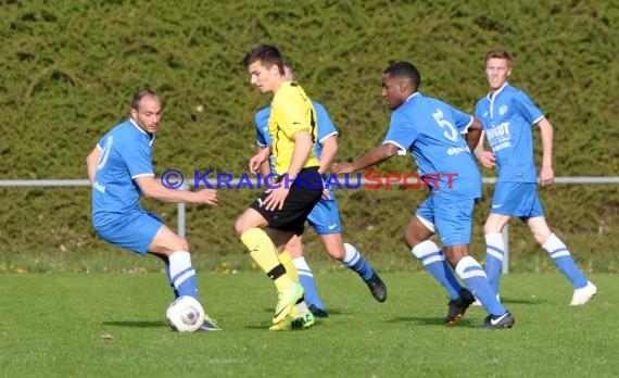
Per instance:
[[[275,244],[263,229],[250,228],[241,235],[241,242],[256,264],[273,279],[278,291],[288,290],[294,285],[278,259]]]

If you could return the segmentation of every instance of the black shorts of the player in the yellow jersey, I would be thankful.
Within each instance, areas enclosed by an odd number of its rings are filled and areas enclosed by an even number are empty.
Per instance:
[[[261,213],[271,228],[303,234],[307,215],[323,196],[323,177],[318,174],[318,167],[301,169],[293,182],[281,180],[275,185],[290,186],[281,210],[266,210],[263,205],[266,192],[252,202],[250,207]]]

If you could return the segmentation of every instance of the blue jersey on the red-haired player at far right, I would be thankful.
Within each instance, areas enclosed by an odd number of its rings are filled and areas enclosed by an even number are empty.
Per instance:
[[[498,181],[536,182],[531,125],[544,114],[527,93],[506,84],[477,102],[476,117],[496,154]]]

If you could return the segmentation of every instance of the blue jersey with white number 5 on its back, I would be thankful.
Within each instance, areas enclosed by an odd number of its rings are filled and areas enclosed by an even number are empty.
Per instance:
[[[407,150],[433,196],[481,197],[481,174],[466,140],[472,116],[417,92],[391,114],[383,143]]]

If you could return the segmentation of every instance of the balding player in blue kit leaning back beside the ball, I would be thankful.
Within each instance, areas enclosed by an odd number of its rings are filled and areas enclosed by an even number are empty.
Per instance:
[[[199,300],[195,270],[189,244],[154,214],[140,207],[140,197],[164,202],[217,204],[217,191],[182,191],[164,187],[154,178],[152,143],[162,116],[162,102],[150,90],[131,100],[129,119],[101,138],[86,159],[92,187],[92,225],[97,234],[114,245],[140,255],[163,260],[176,298]],[[205,315],[200,330],[218,330]]]

